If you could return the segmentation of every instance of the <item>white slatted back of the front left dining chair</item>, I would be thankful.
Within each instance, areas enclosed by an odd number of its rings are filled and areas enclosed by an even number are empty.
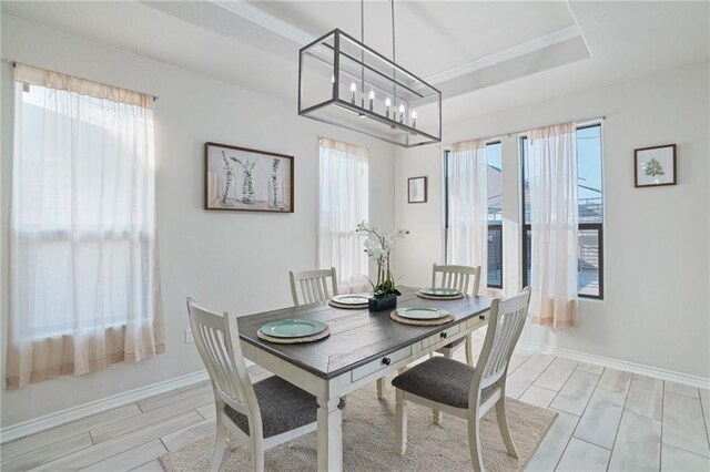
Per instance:
[[[209,311],[193,298],[187,298],[187,312],[197,352],[210,374],[215,401],[252,417],[258,412],[258,403],[244,363],[236,317]]]

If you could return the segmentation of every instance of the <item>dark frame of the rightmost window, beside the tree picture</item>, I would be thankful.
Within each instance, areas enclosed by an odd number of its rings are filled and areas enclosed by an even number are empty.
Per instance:
[[[584,123],[575,126],[575,138],[577,138],[577,131],[584,130],[587,127],[599,126],[599,138],[601,141],[601,195],[602,195],[602,205],[606,206],[606,201],[604,199],[604,123],[601,121],[595,121],[590,123]],[[526,134],[520,134],[518,136],[518,157],[520,160],[520,279],[523,281],[523,286],[529,285],[528,280],[528,258],[531,256],[528,254],[528,245],[527,245],[527,236],[528,233],[531,232],[532,227],[529,223],[526,222],[525,214],[525,152],[526,152],[526,141],[528,136]],[[579,155],[575,156],[577,160]],[[577,162],[579,165],[579,162]],[[578,223],[578,230],[596,230],[597,232],[597,240],[598,243],[598,258],[599,258],[599,294],[590,295],[590,294],[580,294],[577,291],[577,296],[580,298],[587,298],[591,300],[604,300],[605,293],[605,264],[604,264],[604,219],[606,216],[606,212],[601,214],[601,223]],[[530,235],[531,238],[531,235]],[[579,243],[578,243],[579,244]]]

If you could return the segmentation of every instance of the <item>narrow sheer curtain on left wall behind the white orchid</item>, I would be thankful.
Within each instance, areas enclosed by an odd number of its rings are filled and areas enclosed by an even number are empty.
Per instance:
[[[367,289],[365,237],[355,225],[367,219],[367,150],[321,138],[318,265],[337,269],[342,293]]]

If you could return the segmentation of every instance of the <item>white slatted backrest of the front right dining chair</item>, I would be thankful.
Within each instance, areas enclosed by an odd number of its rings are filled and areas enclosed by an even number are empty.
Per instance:
[[[529,302],[529,287],[510,298],[493,300],[486,339],[471,382],[471,399],[476,389],[480,391],[506,374],[513,350],[525,326]]]

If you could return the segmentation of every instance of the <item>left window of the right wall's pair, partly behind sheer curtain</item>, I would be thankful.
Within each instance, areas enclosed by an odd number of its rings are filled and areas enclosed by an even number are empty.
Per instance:
[[[449,151],[444,154],[445,181],[445,232],[449,230],[452,205]],[[486,144],[486,162],[488,164],[487,192],[488,192],[488,260],[487,286],[489,288],[503,288],[503,155],[500,142]],[[445,240],[445,259],[450,261],[450,248],[448,237]]]

